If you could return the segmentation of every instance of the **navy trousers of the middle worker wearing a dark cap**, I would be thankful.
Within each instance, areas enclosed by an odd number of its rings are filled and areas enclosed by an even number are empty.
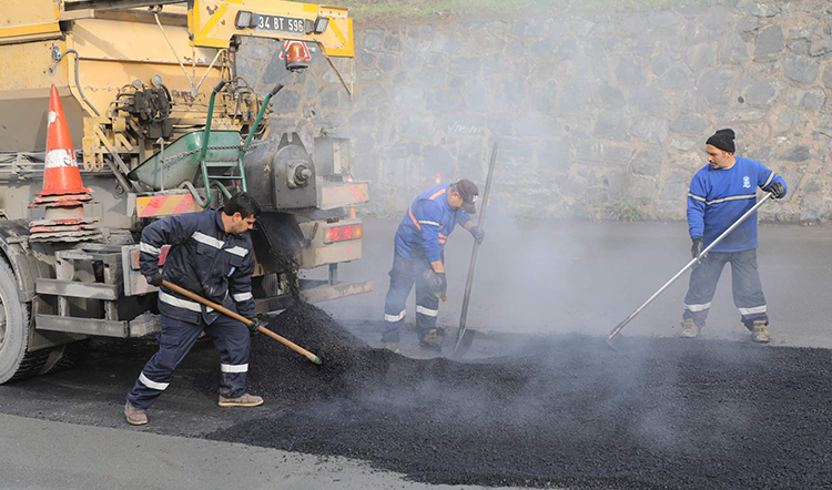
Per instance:
[[[430,267],[425,261],[410,261],[395,253],[393,268],[389,272],[390,288],[384,302],[383,343],[397,343],[399,330],[405,324],[407,297],[416,284],[416,330],[422,337],[436,328],[436,316],[439,314],[439,298],[430,290],[424,272]]]

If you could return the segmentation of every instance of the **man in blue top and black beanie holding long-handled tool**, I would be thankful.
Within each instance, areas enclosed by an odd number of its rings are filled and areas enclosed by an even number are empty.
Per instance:
[[[785,195],[785,182],[760,162],[734,154],[734,132],[719,130],[706,143],[708,165],[690,183],[688,227],[697,258],[719,235],[757,204],[757,187],[774,198]],[[693,338],[704,327],[719,276],[731,264],[733,302],[751,339],[768,343],[769,316],[757,269],[757,213],[718,243],[694,265],[684,296],[681,336]]]

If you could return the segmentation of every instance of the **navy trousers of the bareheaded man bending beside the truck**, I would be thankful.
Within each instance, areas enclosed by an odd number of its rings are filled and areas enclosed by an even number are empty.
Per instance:
[[[142,369],[133,390],[128,394],[128,401],[141,409],[153,405],[203,330],[220,350],[220,395],[229,398],[244,395],[251,347],[251,334],[245,325],[226,316],[207,325],[203,319],[192,324],[162,315],[159,351]]]

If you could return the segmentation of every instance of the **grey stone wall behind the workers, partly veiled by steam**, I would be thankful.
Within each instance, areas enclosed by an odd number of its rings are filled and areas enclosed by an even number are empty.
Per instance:
[[[297,129],[307,147],[322,132],[352,140],[376,214],[405,210],[437,173],[484,182],[499,142],[496,213],[682,218],[704,140],[732,127],[738,154],[789,185],[763,217],[818,222],[831,203],[831,28],[826,0],[357,25],[352,100],[318,52],[290,74],[275,45],[246,40],[237,63],[260,91],[287,84],[274,131]]]

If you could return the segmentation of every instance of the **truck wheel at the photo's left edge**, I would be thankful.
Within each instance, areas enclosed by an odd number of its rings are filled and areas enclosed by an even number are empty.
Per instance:
[[[9,264],[0,258],[0,385],[37,375],[50,349],[27,353],[29,305],[20,302]]]

